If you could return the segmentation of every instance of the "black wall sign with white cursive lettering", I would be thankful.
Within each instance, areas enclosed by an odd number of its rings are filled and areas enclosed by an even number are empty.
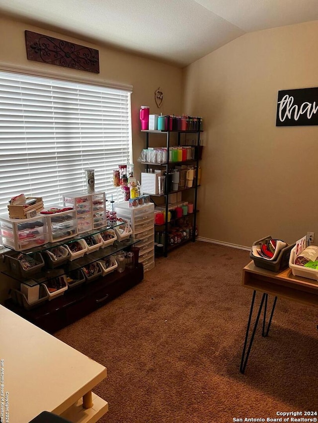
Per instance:
[[[318,125],[318,88],[278,91],[276,126]]]

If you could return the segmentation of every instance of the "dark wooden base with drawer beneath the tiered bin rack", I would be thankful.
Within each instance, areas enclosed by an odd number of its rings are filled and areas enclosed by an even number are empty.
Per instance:
[[[54,333],[128,291],[143,278],[144,268],[139,263],[135,269],[123,273],[115,270],[95,281],[69,289],[63,296],[31,310],[20,307],[11,299],[6,300],[4,305],[46,332]]]

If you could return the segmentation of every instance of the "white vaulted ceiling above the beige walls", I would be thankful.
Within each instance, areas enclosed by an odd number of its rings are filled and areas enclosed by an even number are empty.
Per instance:
[[[247,32],[318,20],[318,0],[0,0],[0,15],[183,67]]]

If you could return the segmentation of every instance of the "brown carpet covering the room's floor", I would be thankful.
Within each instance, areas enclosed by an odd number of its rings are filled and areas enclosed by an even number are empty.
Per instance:
[[[230,423],[318,411],[316,307],[279,299],[268,338],[257,331],[239,373],[248,262],[248,251],[186,244],[156,260],[139,285],[55,334],[107,367],[94,389],[109,403],[99,422]]]

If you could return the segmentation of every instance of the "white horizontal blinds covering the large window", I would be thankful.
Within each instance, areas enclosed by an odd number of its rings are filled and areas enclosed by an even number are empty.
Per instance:
[[[62,204],[84,169],[109,198],[130,153],[130,91],[0,72],[0,214],[21,193]]]

